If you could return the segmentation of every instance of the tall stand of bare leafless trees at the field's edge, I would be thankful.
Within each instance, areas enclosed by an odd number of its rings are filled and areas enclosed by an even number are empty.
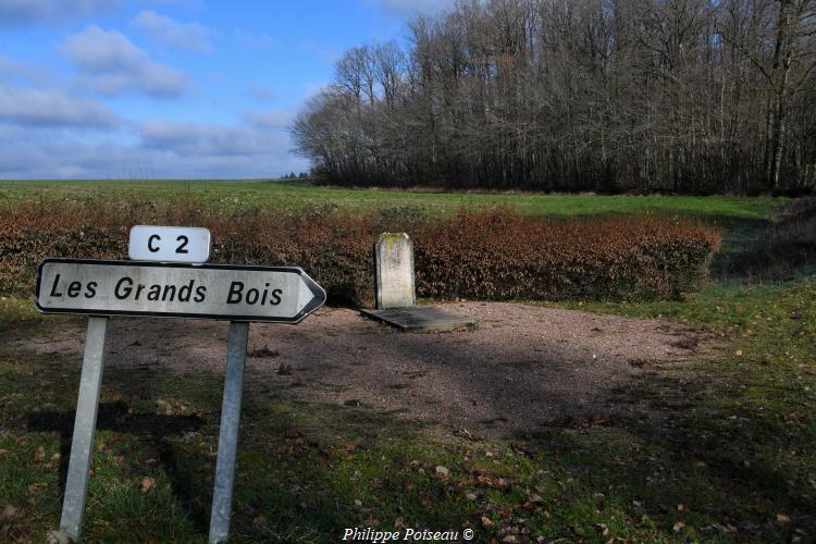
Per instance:
[[[289,127],[339,184],[802,191],[816,0],[468,0],[346,51]]]

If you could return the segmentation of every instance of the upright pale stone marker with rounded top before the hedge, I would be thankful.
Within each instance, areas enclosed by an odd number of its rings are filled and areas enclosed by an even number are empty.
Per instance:
[[[413,242],[406,233],[383,233],[374,249],[376,308],[405,308],[417,304],[413,280]]]

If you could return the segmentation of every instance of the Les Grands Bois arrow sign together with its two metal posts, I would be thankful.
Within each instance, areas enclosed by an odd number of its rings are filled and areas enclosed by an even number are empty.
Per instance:
[[[37,309],[90,316],[60,530],[73,540],[82,531],[109,316],[231,321],[210,520],[210,542],[215,543],[226,541],[230,531],[249,322],[298,323],[324,301],[323,288],[296,267],[81,259],[40,262]]]

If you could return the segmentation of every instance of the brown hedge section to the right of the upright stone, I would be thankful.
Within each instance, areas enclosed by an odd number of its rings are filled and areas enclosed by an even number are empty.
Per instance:
[[[418,233],[417,285],[443,298],[679,298],[700,288],[718,245],[688,221],[461,212]]]

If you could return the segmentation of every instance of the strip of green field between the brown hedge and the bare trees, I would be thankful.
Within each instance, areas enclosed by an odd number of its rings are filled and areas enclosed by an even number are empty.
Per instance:
[[[523,213],[574,217],[611,213],[670,213],[701,218],[764,221],[787,199],[756,197],[664,197],[536,194],[422,193],[344,189],[259,181],[145,182],[0,182],[0,201],[32,198],[119,196],[161,199],[187,196],[218,206],[298,208],[332,202],[344,209],[372,210],[400,206],[450,213],[462,206],[512,206]]]

